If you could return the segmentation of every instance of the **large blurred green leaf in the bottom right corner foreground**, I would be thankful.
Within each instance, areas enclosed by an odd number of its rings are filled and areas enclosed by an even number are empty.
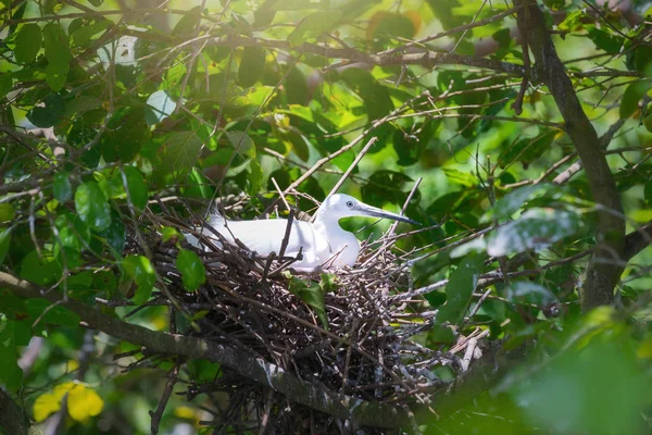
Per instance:
[[[568,346],[554,352],[546,370],[532,370],[529,364],[511,373],[521,380],[504,383],[510,403],[519,408],[517,415],[527,419],[529,427],[546,427],[554,434],[645,432],[640,412],[650,406],[652,383],[630,334],[614,337],[618,326],[579,349]],[[531,430],[516,431],[527,432]]]

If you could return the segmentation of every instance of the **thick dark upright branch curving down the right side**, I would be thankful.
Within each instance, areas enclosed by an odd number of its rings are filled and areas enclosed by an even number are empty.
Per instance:
[[[611,303],[614,287],[620,278],[625,247],[625,221],[616,183],[600,148],[600,138],[584,112],[573,82],[560,60],[543,13],[532,0],[515,0],[519,32],[528,35],[538,76],[548,86],[565,121],[566,134],[582,162],[593,200],[602,206],[598,211],[595,251],[587,269],[581,291],[582,310]],[[606,260],[606,261],[605,261]],[[605,262],[607,264],[605,264]]]

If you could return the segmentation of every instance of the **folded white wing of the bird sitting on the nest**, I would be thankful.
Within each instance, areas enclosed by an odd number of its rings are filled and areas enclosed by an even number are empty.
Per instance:
[[[279,253],[287,225],[288,221],[285,219],[229,221],[226,227],[220,227],[217,231],[228,240],[235,237],[252,251],[266,256],[271,252]],[[328,243],[311,223],[293,221],[286,254],[293,256],[300,248],[303,248],[303,252],[311,252],[318,258],[330,252]]]

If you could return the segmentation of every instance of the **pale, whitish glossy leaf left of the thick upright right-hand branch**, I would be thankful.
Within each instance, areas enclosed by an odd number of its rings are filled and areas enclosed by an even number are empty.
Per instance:
[[[543,248],[577,233],[584,226],[581,215],[566,210],[530,209],[516,221],[499,227],[487,243],[487,252],[501,257]]]

